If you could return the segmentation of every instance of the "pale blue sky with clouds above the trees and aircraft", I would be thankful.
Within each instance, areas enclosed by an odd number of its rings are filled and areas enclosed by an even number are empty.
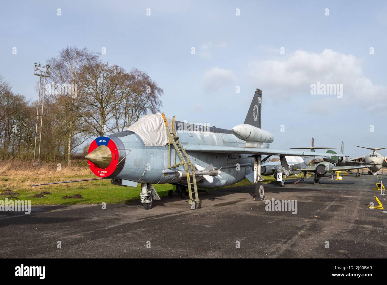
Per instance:
[[[344,141],[350,156],[367,152],[354,145],[387,146],[386,2],[7,1],[0,24],[0,75],[27,98],[34,62],[67,46],[106,47],[101,59],[149,73],[164,90],[161,111],[180,121],[231,129],[260,88],[273,148],[312,136],[316,146]],[[312,95],[317,81],[342,84],[342,98]]]

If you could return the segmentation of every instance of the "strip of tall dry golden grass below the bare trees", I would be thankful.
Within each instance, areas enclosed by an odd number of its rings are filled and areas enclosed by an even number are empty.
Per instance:
[[[61,170],[58,170],[57,163],[41,163],[36,167],[30,162],[0,162],[0,190],[31,189],[31,185],[36,183],[95,177],[87,166],[72,165],[67,167],[62,165]]]

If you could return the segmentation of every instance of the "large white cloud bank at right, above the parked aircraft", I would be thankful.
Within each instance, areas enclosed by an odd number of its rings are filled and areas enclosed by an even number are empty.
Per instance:
[[[342,84],[342,99],[346,102],[370,105],[375,104],[374,100],[387,98],[387,86],[375,85],[371,79],[365,77],[361,63],[353,55],[330,49],[325,49],[320,54],[298,50],[283,60],[251,62],[248,65],[248,74],[257,86],[268,91],[265,93],[277,96],[286,97],[291,93],[310,95],[310,85],[319,81],[325,84]]]

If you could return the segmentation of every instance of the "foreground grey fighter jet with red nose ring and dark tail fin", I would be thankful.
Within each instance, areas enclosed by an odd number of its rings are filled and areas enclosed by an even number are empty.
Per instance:
[[[286,174],[289,165],[285,156],[327,154],[269,149],[274,136],[260,128],[261,109],[262,91],[257,89],[244,124],[232,130],[187,124],[175,121],[175,117],[166,119],[160,113],[148,114],[128,130],[93,140],[86,158],[97,179],[111,179],[111,183],[122,186],[141,183],[140,199],[145,209],[160,199],[153,187],[158,183],[176,185],[182,196],[188,189],[191,209],[200,201],[199,187],[223,187],[247,176],[255,184],[256,199],[264,199],[261,165],[271,155],[280,157]]]

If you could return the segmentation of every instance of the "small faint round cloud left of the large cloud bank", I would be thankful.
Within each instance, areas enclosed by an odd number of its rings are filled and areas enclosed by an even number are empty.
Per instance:
[[[222,86],[228,85],[233,81],[234,74],[232,70],[217,66],[205,71],[203,76],[203,86],[207,92],[219,91]]]

